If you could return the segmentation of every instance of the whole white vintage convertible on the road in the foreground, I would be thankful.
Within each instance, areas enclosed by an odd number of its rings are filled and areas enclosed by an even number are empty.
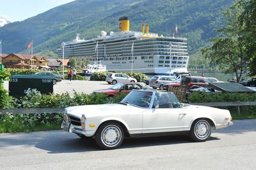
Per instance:
[[[95,137],[103,149],[115,149],[124,137],[188,134],[194,141],[206,141],[212,129],[232,123],[225,109],[180,104],[170,92],[133,90],[118,104],[67,107],[61,128]]]

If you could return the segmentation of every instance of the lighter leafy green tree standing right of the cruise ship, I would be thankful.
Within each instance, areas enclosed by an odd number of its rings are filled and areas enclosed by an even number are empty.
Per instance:
[[[242,12],[242,3],[235,3],[223,12],[225,27],[217,29],[220,35],[211,40],[211,46],[201,50],[211,63],[220,65],[226,72],[235,73],[237,81],[247,72],[250,59],[244,45],[244,24],[239,21]]]

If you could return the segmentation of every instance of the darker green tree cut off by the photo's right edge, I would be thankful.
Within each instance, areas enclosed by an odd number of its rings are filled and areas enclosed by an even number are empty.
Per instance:
[[[242,0],[244,11],[241,14],[241,24],[246,32],[246,54],[250,56],[249,74],[256,75],[256,1]]]

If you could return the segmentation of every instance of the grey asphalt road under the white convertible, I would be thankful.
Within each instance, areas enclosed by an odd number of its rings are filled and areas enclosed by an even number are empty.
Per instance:
[[[100,150],[63,130],[0,134],[0,169],[256,169],[256,120],[234,121],[209,141],[168,136],[125,139]]]

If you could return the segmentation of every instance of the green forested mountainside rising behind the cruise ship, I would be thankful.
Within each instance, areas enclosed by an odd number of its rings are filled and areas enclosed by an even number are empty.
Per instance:
[[[33,51],[52,54],[61,42],[73,40],[76,33],[90,39],[100,31],[118,31],[118,18],[129,16],[130,30],[139,31],[142,23],[150,32],[188,38],[189,55],[195,54],[223,24],[221,11],[234,0],[77,0],[0,27],[3,53],[22,52],[31,40]]]

